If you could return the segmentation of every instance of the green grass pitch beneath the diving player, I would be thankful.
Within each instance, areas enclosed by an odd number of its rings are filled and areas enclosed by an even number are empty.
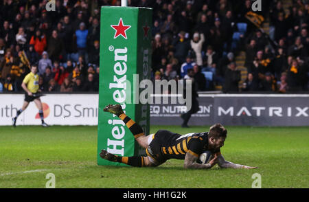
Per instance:
[[[207,127],[151,126],[176,133]],[[309,188],[309,127],[226,126],[222,155],[258,170],[185,170],[171,159],[157,168],[98,166],[96,126],[0,127],[0,188],[45,188],[47,173],[56,188],[251,188],[253,173],[262,188]]]

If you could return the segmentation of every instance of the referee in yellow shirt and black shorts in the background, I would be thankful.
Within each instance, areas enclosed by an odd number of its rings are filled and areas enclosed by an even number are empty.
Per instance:
[[[17,111],[16,117],[12,118],[13,126],[16,126],[16,120],[19,115],[27,109],[27,106],[30,102],[34,101],[36,106],[38,107],[38,114],[41,117],[43,127],[48,127],[44,122],[44,114],[43,114],[43,105],[40,99],[40,95],[38,92],[41,92],[41,90],[38,89],[38,67],[36,65],[31,66],[31,72],[25,76],[23,79],[23,83],[21,84],[21,87],[25,91],[25,101],[23,102],[23,106],[19,111]]]

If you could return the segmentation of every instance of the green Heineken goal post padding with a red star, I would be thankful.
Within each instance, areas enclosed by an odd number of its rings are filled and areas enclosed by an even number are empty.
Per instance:
[[[139,82],[150,80],[152,9],[102,6],[100,23],[98,165],[125,166],[102,159],[100,151],[135,156],[144,150],[124,122],[103,109],[122,104],[126,115],[149,135],[150,106],[139,102]]]

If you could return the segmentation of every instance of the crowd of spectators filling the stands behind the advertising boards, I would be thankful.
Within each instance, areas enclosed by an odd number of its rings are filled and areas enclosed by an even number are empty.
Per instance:
[[[0,92],[23,91],[30,65],[38,65],[41,91],[98,91],[100,7],[108,0],[0,1]],[[153,8],[152,79],[192,79],[198,91],[308,91],[309,6],[262,0],[269,36],[246,14],[251,0],[128,0]],[[236,63],[245,52],[247,79]],[[188,74],[190,72],[190,74]]]

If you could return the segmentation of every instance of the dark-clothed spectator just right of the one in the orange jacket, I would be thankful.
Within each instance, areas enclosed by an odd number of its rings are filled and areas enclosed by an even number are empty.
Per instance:
[[[63,55],[63,43],[61,38],[58,37],[58,32],[56,30],[53,30],[52,36],[49,38],[47,43],[47,52],[52,61],[60,60],[60,56]]]

